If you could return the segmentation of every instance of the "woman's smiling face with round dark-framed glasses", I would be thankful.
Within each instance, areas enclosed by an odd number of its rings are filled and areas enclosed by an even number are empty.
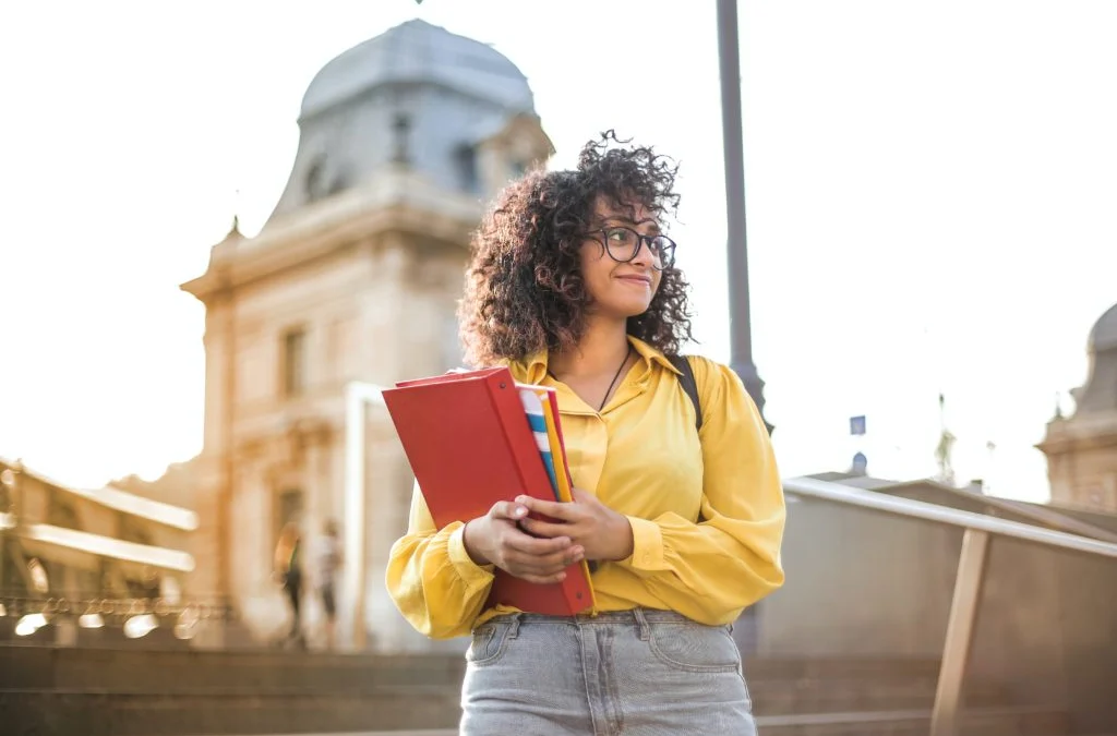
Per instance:
[[[647,312],[662,279],[657,268],[662,264],[648,241],[641,241],[639,236],[659,235],[656,218],[642,204],[631,209],[615,208],[599,198],[590,230],[581,250],[582,280],[590,296],[590,313],[627,319]],[[607,242],[609,252],[605,251]],[[621,262],[633,250],[636,257]]]

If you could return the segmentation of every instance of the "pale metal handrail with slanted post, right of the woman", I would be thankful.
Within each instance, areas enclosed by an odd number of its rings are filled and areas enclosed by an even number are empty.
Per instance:
[[[791,478],[783,482],[789,495],[814,498],[847,506],[858,506],[875,512],[918,518],[965,529],[962,556],[954,582],[954,595],[943,644],[943,659],[938,672],[938,687],[930,718],[930,736],[956,736],[958,733],[958,704],[966,675],[966,662],[973,642],[977,604],[985,581],[991,537],[1022,539],[1049,547],[1068,549],[1117,560],[1117,544],[1089,539],[1065,532],[1053,532],[1028,524],[1009,522],[971,512],[962,512],[935,504],[898,498],[885,494],[850,488],[812,478]]]

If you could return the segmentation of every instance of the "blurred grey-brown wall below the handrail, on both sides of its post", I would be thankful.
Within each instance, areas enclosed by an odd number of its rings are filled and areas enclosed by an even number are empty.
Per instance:
[[[760,654],[939,658],[961,542],[929,522],[791,503],[787,583],[760,605]],[[1019,704],[1070,704],[1111,728],[1117,561],[994,538],[970,668]]]

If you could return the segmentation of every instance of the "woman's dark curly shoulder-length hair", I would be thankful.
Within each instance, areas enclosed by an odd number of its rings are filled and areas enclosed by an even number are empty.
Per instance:
[[[608,131],[585,144],[575,170],[531,171],[493,202],[474,235],[458,308],[470,364],[521,361],[577,345],[590,303],[579,250],[594,227],[599,198],[629,211],[642,204],[657,218],[678,210],[678,166],[651,147],[628,143]],[[648,310],[629,317],[628,334],[678,353],[693,338],[688,289],[680,270],[665,268]]]

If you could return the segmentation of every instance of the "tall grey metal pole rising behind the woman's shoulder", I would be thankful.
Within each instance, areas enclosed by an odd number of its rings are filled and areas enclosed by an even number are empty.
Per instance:
[[[728,224],[731,367],[764,414],[764,381],[753,363],[748,304],[748,243],[745,229],[745,163],[741,123],[741,54],[737,2],[717,0],[717,47],[722,71],[722,136],[725,147],[725,207]],[[764,423],[771,432],[774,428]]]

